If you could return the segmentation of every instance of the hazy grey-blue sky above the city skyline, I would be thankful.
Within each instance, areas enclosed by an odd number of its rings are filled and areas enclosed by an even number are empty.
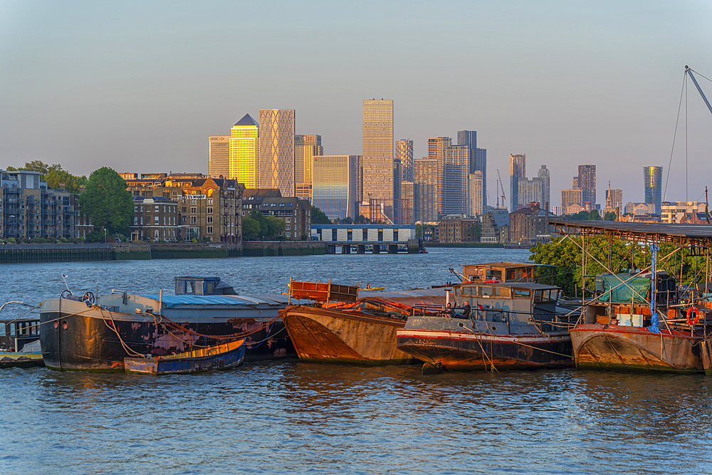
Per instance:
[[[207,137],[293,108],[327,155],[362,152],[362,99],[394,100],[395,139],[477,130],[509,197],[509,154],[577,165],[597,200],[643,201],[668,172],[684,66],[712,78],[710,1],[150,2],[0,0],[0,168],[207,172]],[[698,79],[712,100],[712,83]],[[712,114],[689,83],[689,199],[712,189]],[[685,199],[685,102],[667,199]]]

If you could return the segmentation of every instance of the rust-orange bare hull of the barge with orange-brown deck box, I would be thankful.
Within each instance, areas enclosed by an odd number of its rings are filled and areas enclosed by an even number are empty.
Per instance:
[[[396,347],[396,330],[405,320],[309,306],[289,306],[281,315],[303,361],[357,365],[414,362]]]

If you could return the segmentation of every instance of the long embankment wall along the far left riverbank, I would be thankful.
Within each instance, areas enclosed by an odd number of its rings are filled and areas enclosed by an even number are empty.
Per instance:
[[[240,256],[325,254],[314,241],[224,243],[4,244],[0,263],[125,261],[141,259],[214,259]]]

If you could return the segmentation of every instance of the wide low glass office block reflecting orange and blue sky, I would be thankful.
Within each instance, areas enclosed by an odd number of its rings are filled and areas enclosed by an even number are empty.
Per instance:
[[[356,155],[313,157],[312,204],[329,219],[356,219]]]

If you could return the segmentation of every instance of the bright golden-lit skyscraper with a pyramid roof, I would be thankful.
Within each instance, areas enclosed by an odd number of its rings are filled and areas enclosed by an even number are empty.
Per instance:
[[[257,122],[245,114],[230,130],[229,179],[237,180],[246,188],[257,187],[259,132]]]

